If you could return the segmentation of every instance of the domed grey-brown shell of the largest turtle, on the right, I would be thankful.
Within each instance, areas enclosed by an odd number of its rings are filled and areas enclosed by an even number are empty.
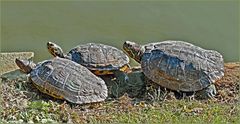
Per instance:
[[[177,91],[198,91],[224,75],[222,55],[183,41],[143,46],[144,74],[153,82]]]

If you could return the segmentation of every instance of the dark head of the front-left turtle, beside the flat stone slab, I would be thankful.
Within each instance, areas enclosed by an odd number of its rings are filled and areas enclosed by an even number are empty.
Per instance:
[[[22,72],[27,74],[30,73],[32,69],[36,66],[31,60],[16,59],[15,63],[17,64],[17,66],[20,68]]]

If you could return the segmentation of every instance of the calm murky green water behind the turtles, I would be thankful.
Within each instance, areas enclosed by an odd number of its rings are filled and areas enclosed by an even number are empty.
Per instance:
[[[87,42],[121,48],[169,39],[238,61],[239,2],[1,2],[1,51],[34,51],[36,61],[51,58],[47,41],[67,52]]]

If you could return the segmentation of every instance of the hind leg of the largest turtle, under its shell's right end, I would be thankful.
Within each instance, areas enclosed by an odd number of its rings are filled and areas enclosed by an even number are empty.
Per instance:
[[[214,84],[211,84],[210,86],[197,91],[195,94],[196,99],[212,99],[216,96],[217,90]]]

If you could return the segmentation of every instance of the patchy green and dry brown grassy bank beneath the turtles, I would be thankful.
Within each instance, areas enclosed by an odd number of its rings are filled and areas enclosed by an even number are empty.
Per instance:
[[[240,65],[228,66],[216,83],[211,100],[108,99],[76,105],[53,99],[32,87],[26,78],[4,78],[1,83],[2,123],[240,123]],[[155,95],[159,97],[158,95]]]

